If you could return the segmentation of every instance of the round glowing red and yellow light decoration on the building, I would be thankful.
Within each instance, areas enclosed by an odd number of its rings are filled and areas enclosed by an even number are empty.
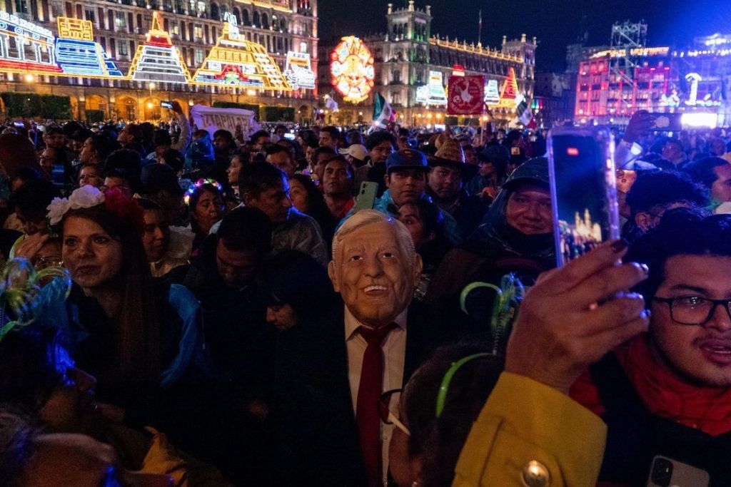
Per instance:
[[[344,101],[363,101],[374,85],[373,55],[357,37],[343,37],[330,54],[330,73],[333,86]]]

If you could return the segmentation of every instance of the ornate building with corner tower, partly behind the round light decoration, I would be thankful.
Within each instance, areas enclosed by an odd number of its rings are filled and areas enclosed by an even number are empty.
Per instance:
[[[327,62],[340,39],[320,42],[318,65],[319,91],[333,96],[338,112],[323,113],[325,123],[348,124],[358,120],[368,123],[375,93],[381,93],[405,125],[427,126],[444,123],[447,116],[447,80],[453,74],[485,76],[485,98],[495,118],[515,118],[515,103],[500,106],[500,93],[512,76],[518,93],[533,96],[536,39],[508,41],[498,48],[467,44],[457,39],[442,39],[431,32],[431,8],[408,6],[397,9],[389,4],[387,32],[363,39],[374,57],[374,88],[368,99],[358,104],[344,102],[332,86],[332,72]],[[326,45],[327,44],[327,45]],[[322,104],[322,101],[321,101]],[[324,111],[324,110],[323,110]]]

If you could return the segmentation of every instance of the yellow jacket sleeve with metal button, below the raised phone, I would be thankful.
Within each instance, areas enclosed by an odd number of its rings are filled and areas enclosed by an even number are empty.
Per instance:
[[[469,432],[452,487],[595,486],[606,434],[599,416],[569,396],[503,372]]]

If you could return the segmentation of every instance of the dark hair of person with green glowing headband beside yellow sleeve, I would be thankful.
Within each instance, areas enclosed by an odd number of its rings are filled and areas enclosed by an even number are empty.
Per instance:
[[[423,486],[452,484],[472,423],[502,372],[502,358],[480,356],[463,364],[452,376],[442,415],[436,418],[437,396],[444,375],[461,358],[486,350],[488,346],[481,343],[438,348],[406,383],[400,401],[401,421],[411,432],[409,455],[420,457]]]

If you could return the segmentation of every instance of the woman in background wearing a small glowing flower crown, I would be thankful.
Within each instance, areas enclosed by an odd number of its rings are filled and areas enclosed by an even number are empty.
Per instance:
[[[193,252],[200,247],[211,227],[226,214],[223,186],[212,179],[200,179],[188,188],[184,200],[190,212],[190,226],[195,234]]]

